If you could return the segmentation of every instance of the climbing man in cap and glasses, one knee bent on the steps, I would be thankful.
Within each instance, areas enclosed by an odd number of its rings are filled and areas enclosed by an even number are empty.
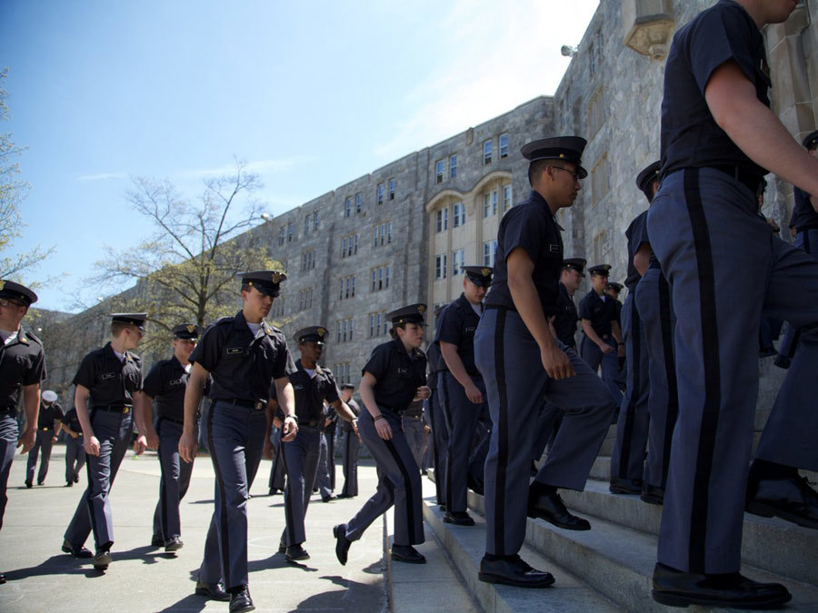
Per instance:
[[[544,588],[554,583],[518,552],[529,517],[565,529],[589,529],[565,509],[558,488],[584,489],[613,415],[603,381],[573,350],[554,339],[563,239],[554,213],[574,204],[585,140],[546,138],[523,147],[532,193],[505,213],[497,232],[492,290],[474,335],[494,429],[485,460],[485,556],[481,580]],[[542,368],[540,368],[542,364]],[[543,399],[565,411],[548,460],[529,488],[538,413]]]

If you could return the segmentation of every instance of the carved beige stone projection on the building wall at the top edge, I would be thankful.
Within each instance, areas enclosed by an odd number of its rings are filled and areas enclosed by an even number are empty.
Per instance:
[[[675,29],[672,0],[622,0],[623,43],[652,60],[663,60]]]

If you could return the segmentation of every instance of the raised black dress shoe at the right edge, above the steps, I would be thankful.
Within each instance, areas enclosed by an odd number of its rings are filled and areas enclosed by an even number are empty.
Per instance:
[[[805,477],[753,479],[747,481],[747,512],[773,516],[805,528],[818,529],[818,492]]]

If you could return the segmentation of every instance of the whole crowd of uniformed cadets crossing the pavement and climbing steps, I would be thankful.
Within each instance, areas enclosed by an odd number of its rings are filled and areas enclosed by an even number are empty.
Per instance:
[[[583,258],[564,258],[555,220],[574,204],[587,175],[584,139],[534,140],[522,149],[532,191],[500,223],[494,269],[463,266],[463,293],[434,313],[428,353],[421,351],[425,304],[387,315],[392,341],[375,347],[362,369],[363,408],[352,398],[354,386],[339,388],[320,364],[323,327],[296,332],[301,357],[293,361],[284,334],[265,321],[286,275],[259,271],[242,275],[243,306],[234,317],[204,332],[176,326],[173,357],[144,380],[132,351],[146,314],[114,314],[111,341],[83,359],[74,408],[64,415],[53,391],[41,399],[43,346],[21,327],[36,295],[0,281],[0,527],[15,446],[31,450],[29,488],[42,451],[42,484],[62,427],[69,436],[66,486],[78,482],[84,460],[88,475],[62,549],[106,569],[115,543],[108,494],[136,429],[136,453],[157,449],[162,467],[152,544],[180,549],[179,504],[201,429],[215,500],[195,593],[229,600],[231,611],[252,610],[247,499],[259,461],[275,450],[269,487],[271,494],[284,489],[280,552],[291,561],[309,558],[304,516],[325,430],[337,415],[344,458],[338,498],[359,494],[362,442],[378,467],[374,494],[333,529],[338,560],[345,564],[354,541],[394,507],[392,559],[424,563],[414,546],[424,542],[425,407],[444,521],[474,525],[466,489],[484,493],[479,578],[544,588],[554,584],[551,573],[519,556],[526,516],[562,529],[593,528],[566,509],[559,490],[584,489],[615,422],[611,491],[663,505],[653,598],[680,607],[782,606],[791,598],[785,587],[745,578],[739,569],[744,510],[818,529],[818,493],[798,473],[818,470],[818,131],[802,148],[770,111],[760,33],[793,7],[721,0],[676,33],[665,69],[660,159],[635,177],[648,208],[625,232],[623,304],[623,286],[609,282],[610,265],[586,269]],[[793,244],[773,235],[758,213],[768,172],[797,186]],[[577,308],[586,270],[592,289]],[[763,316],[787,321],[777,363],[789,370],[752,458],[753,331]],[[205,394],[210,402],[200,415]],[[26,426],[18,435],[21,403]],[[537,469],[532,460],[546,448]],[[94,551],[85,548],[92,532]]]

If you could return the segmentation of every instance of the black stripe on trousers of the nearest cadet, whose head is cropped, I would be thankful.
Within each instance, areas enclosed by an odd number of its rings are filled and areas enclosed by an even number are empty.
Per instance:
[[[713,451],[719,425],[719,406],[722,401],[719,361],[719,328],[716,318],[715,272],[710,231],[704,215],[699,186],[699,169],[684,170],[684,198],[693,231],[696,265],[699,277],[699,317],[702,321],[702,350],[704,367],[704,406],[699,430],[693,504],[689,543],[690,571],[705,572],[707,539],[707,509],[710,503],[710,480],[713,473]]]

